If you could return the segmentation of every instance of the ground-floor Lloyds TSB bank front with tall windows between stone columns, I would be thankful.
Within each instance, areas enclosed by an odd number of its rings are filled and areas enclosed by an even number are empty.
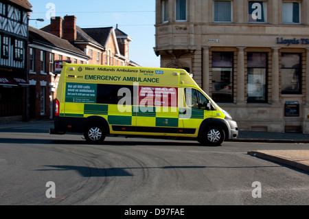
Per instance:
[[[308,38],[231,37],[203,47],[203,89],[241,130],[309,132]]]

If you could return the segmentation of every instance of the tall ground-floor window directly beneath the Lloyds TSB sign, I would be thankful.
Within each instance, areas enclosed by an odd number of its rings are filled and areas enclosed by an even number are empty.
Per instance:
[[[301,54],[282,53],[282,94],[301,93]]]

